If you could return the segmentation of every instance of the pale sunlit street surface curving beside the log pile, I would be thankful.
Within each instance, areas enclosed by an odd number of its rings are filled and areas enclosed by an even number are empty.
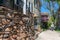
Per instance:
[[[47,30],[38,35],[36,40],[60,40],[60,33]]]

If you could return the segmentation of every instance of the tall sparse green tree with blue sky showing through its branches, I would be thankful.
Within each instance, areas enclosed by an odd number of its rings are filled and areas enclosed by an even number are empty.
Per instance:
[[[58,0],[59,1],[59,0]],[[55,14],[56,14],[56,12],[55,12],[55,4],[57,3],[57,0],[45,0],[45,2],[47,2],[48,3],[48,5],[46,6],[46,8],[50,11],[50,14],[51,14],[51,19],[52,19],[52,21],[54,22],[54,24],[55,24],[55,20],[56,20],[56,16],[55,16]]]

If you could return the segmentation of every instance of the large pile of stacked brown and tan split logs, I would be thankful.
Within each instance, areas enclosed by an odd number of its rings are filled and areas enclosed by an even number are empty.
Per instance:
[[[4,17],[0,17],[0,35],[3,35],[2,38],[34,40],[34,27],[30,23],[31,18],[20,12],[10,12],[11,10],[3,9],[1,9],[3,12],[0,11],[0,13],[4,13]],[[5,34],[8,34],[8,36],[6,37]]]

